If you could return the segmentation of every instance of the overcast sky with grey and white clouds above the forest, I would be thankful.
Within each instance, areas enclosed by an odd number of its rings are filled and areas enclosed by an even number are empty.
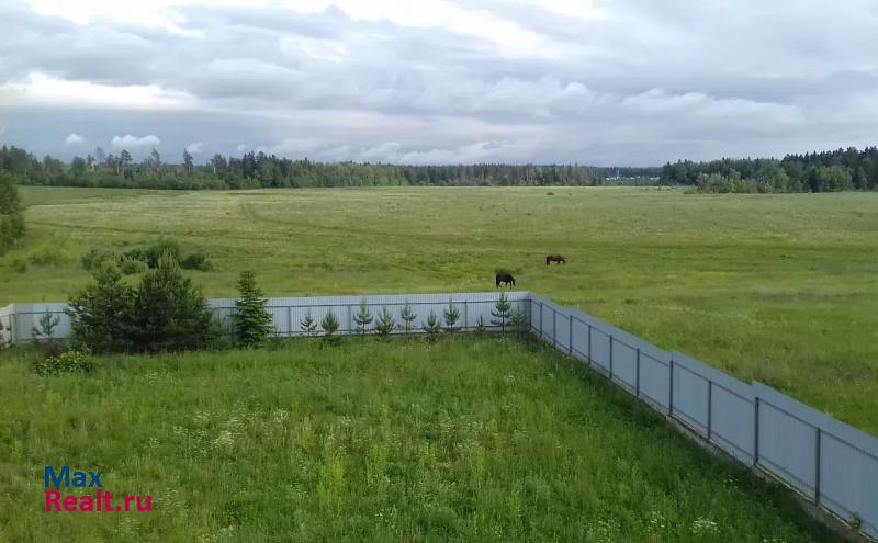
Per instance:
[[[875,0],[3,0],[0,142],[661,165],[878,143]]]

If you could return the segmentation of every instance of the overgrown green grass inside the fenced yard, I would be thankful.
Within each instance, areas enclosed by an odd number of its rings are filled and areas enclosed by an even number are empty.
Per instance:
[[[34,357],[0,354],[0,541],[835,541],[537,344],[300,339],[60,377]],[[46,513],[61,464],[154,510]]]

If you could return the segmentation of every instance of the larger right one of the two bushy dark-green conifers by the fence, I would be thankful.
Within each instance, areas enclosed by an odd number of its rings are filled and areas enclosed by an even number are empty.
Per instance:
[[[207,301],[184,278],[172,253],[162,254],[155,270],[140,279],[131,315],[131,339],[139,351],[200,349],[211,341]]]

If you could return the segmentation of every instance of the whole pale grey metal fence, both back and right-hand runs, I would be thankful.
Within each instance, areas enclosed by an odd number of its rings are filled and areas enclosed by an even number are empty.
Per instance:
[[[682,422],[742,463],[763,470],[863,533],[878,539],[878,439],[785,396],[757,382],[743,383],[680,352],[664,351],[578,309],[561,306],[530,292],[506,293],[515,308],[529,313],[534,333],[556,349],[587,362],[653,409]],[[416,315],[412,331],[432,312],[440,319],[453,304],[462,329],[480,320],[494,327],[492,310],[498,293],[410,294],[269,298],[275,332],[302,336],[301,321],[333,312],[340,333],[356,330],[361,303],[378,318],[387,307],[397,325],[408,304]],[[227,318],[235,299],[212,299]],[[56,337],[70,332],[66,304],[13,304],[0,307],[4,339],[32,341],[40,317],[59,317]],[[373,323],[374,326],[374,323]],[[397,328],[396,330],[402,331]]]

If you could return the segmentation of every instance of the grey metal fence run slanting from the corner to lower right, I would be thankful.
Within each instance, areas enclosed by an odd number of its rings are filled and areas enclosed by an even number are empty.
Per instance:
[[[530,304],[543,340],[878,539],[878,439],[577,309],[536,294]]]

